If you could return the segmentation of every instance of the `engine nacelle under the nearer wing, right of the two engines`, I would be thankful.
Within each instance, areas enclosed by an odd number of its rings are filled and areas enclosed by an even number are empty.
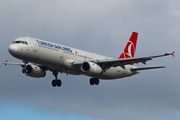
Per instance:
[[[81,65],[81,69],[83,72],[88,73],[90,75],[99,75],[103,73],[102,68],[93,62],[84,62]]]

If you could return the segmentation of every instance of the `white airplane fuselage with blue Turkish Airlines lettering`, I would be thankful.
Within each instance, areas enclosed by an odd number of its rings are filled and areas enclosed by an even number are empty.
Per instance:
[[[16,43],[16,41],[26,41],[27,44]],[[30,37],[17,38],[9,46],[9,52],[18,59],[47,66],[48,68],[55,69],[62,73],[87,76],[92,75],[84,73],[79,67],[73,66],[74,61],[82,62],[112,59],[106,56]],[[117,79],[138,73],[132,72],[130,70],[131,68],[134,68],[134,66],[125,65],[125,69],[122,67],[111,67],[106,72],[92,77],[98,77],[99,79]]]

